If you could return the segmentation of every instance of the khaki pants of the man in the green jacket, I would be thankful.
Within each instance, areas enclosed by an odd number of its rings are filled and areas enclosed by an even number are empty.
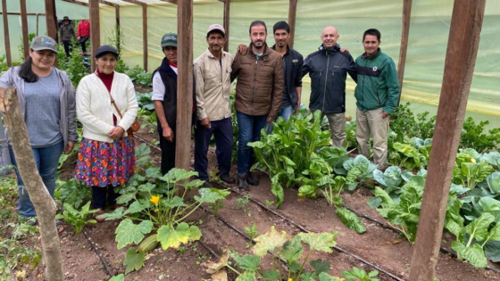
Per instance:
[[[383,108],[362,112],[356,108],[356,141],[359,152],[370,159],[370,134],[373,136],[373,162],[379,169],[387,167],[387,133],[389,117],[382,118]]]

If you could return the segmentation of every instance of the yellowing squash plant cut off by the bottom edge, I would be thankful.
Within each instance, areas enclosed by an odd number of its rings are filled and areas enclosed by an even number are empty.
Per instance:
[[[243,280],[341,280],[329,276],[331,269],[329,260],[312,260],[312,252],[332,252],[336,245],[337,232],[301,233],[290,237],[284,231],[277,231],[274,227],[267,233],[255,238],[252,248],[253,254],[239,255],[237,252],[229,254],[224,252],[221,259],[216,262],[205,262],[206,271],[212,278],[222,277],[227,279],[225,269],[237,274],[237,281]],[[305,251],[303,244],[308,245]],[[235,262],[230,263],[229,257]],[[262,262],[264,257],[271,258],[271,265]],[[280,266],[280,260],[285,260],[286,265]],[[312,269],[308,270],[305,265]],[[271,268],[270,268],[271,267]]]

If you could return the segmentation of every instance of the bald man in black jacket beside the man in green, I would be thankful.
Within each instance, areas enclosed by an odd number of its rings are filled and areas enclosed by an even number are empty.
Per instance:
[[[320,110],[321,119],[329,120],[333,145],[344,146],[346,141],[346,78],[347,73],[357,81],[354,59],[349,52],[341,52],[337,45],[335,27],[326,27],[321,34],[323,44],[304,61],[302,75],[311,77],[311,112]]]

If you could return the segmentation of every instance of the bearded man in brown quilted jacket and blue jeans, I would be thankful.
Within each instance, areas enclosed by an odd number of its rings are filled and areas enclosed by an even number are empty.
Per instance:
[[[258,141],[266,122],[276,119],[285,87],[281,55],[266,44],[265,22],[250,25],[249,52],[237,53],[232,65],[231,81],[237,78],[235,107],[237,112],[237,187],[248,189],[259,181],[249,172],[254,162],[252,148],[246,144]]]

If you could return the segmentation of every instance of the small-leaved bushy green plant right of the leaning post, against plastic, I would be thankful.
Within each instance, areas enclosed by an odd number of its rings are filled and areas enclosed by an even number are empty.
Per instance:
[[[497,150],[500,145],[500,128],[489,129],[488,134],[484,134],[483,131],[488,124],[487,120],[476,124],[471,117],[464,120],[460,147],[473,147],[479,153]]]

